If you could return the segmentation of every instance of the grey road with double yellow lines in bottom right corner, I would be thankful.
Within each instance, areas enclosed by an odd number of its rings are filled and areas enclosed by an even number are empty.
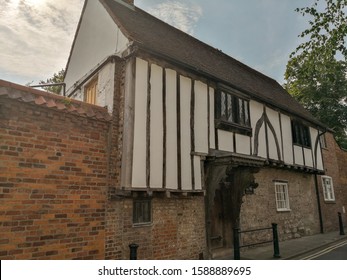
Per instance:
[[[311,253],[302,260],[347,260],[347,240]]]

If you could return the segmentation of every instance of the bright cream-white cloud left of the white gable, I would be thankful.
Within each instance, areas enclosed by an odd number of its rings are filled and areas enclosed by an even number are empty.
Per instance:
[[[0,75],[38,82],[65,67],[83,0],[0,0],[0,5]]]

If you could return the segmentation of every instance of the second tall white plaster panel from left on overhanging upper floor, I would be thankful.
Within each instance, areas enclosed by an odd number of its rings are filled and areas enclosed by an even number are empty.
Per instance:
[[[163,69],[151,66],[150,187],[163,187]]]

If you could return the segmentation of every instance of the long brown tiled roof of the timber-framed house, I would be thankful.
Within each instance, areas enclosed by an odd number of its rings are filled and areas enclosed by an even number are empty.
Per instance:
[[[116,0],[100,2],[122,32],[140,48],[181,63],[212,77],[216,82],[235,87],[255,99],[324,126],[275,80],[137,7],[129,7]],[[232,36],[227,34],[227,31],[225,35]]]

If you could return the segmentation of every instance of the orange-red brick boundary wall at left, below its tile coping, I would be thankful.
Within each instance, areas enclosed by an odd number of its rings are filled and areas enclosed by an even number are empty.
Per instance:
[[[0,258],[103,259],[108,123],[0,97]]]

